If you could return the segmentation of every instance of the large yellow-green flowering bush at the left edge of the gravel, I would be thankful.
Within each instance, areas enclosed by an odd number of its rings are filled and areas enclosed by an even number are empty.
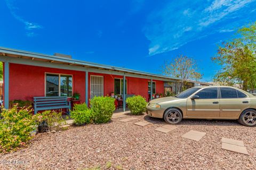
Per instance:
[[[7,152],[26,143],[33,138],[31,132],[36,130],[36,122],[31,108],[17,106],[3,109],[0,120],[0,152]]]

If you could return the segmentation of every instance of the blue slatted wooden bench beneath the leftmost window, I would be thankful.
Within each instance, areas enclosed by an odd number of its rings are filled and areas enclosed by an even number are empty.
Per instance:
[[[34,114],[38,111],[53,110],[53,109],[68,109],[70,111],[70,101],[67,97],[34,97]]]

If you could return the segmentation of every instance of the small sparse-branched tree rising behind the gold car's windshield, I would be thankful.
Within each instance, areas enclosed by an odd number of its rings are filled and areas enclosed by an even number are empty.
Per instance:
[[[162,70],[164,75],[182,79],[178,81],[178,91],[180,92],[188,80],[199,80],[202,78],[202,74],[197,71],[196,61],[185,55],[179,55],[171,62],[165,62]]]

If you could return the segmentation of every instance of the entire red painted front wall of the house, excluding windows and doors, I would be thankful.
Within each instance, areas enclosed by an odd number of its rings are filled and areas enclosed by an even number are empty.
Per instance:
[[[10,63],[10,88],[9,99],[31,100],[35,96],[45,96],[45,73],[71,74],[73,75],[73,93],[78,92],[81,95],[81,102],[85,102],[85,72],[72,71],[63,69],[53,69],[50,67],[39,67],[22,64]],[[91,96],[91,75],[103,76],[104,96],[110,95],[114,91],[114,79],[123,78],[119,75],[100,74],[89,72],[88,91],[89,99]],[[147,100],[148,81],[149,79],[126,77],[127,94],[141,95]],[[164,82],[153,80],[156,82],[156,93],[164,93]]]

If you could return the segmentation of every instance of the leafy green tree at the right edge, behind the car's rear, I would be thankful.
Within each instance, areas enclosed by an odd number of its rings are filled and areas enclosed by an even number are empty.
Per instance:
[[[212,61],[221,65],[214,81],[223,85],[238,84],[243,90],[253,89],[256,82],[256,22],[239,29],[239,38],[219,46]]]

